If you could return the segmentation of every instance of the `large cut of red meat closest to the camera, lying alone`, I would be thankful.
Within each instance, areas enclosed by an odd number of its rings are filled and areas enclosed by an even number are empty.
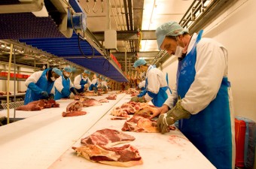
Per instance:
[[[135,137],[113,129],[102,129],[81,139],[83,146],[72,147],[78,155],[93,162],[120,167],[132,167],[142,164],[142,157],[136,147],[126,144],[114,146],[135,140]]]

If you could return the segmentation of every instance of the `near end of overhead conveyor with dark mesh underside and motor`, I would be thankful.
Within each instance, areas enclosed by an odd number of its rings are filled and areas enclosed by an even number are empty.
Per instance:
[[[28,5],[38,8],[23,10]],[[86,16],[77,0],[10,0],[0,2],[0,11],[0,39],[71,38],[73,29],[86,29]]]

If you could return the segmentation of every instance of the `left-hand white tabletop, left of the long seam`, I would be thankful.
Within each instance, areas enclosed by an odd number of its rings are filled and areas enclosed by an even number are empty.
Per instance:
[[[89,98],[99,100],[106,96],[108,94]],[[66,111],[66,106],[74,101],[71,99],[57,101],[60,104],[58,108],[43,109],[37,113],[23,111],[35,114],[0,127],[0,167],[48,168],[124,96],[119,94],[117,100],[101,106],[83,107],[87,111],[84,116],[62,117],[62,111]]]

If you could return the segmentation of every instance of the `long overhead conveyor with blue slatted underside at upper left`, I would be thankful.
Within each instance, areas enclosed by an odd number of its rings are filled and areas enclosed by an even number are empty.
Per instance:
[[[34,3],[38,1],[32,0]],[[4,5],[10,7],[8,3],[21,5],[20,7],[25,5],[23,1],[11,0],[5,1],[5,4],[0,2],[0,9]],[[33,11],[0,13],[2,18],[0,39],[19,40],[3,42],[7,44],[14,42],[16,46],[26,48],[24,53],[20,53],[21,55],[30,53],[30,50],[27,50],[30,47],[31,51],[41,50],[40,53],[47,53],[45,56],[49,56],[48,60],[72,62],[74,65],[90,69],[117,82],[127,81],[123,71],[111,58],[111,53],[105,50],[86,28],[86,15],[78,1],[44,0],[42,4],[47,9],[48,17],[38,17],[32,13]]]

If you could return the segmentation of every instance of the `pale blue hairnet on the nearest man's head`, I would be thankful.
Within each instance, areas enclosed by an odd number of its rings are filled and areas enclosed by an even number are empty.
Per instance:
[[[182,28],[175,21],[163,23],[163,25],[159,26],[156,30],[158,49],[160,50],[160,46],[163,44],[163,39],[166,38],[166,36],[183,35],[184,32],[188,33],[188,29]]]

